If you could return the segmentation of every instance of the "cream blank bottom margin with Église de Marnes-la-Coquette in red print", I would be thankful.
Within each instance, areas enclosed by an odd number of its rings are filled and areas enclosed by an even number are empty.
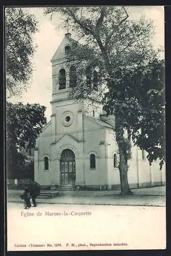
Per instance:
[[[7,205],[8,250],[164,249],[165,207]]]

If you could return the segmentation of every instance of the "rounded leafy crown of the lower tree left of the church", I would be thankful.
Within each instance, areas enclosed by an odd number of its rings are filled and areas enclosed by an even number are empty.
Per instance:
[[[40,104],[24,105],[22,102],[7,102],[7,138],[17,149],[35,146],[37,135],[46,124],[45,106]]]

